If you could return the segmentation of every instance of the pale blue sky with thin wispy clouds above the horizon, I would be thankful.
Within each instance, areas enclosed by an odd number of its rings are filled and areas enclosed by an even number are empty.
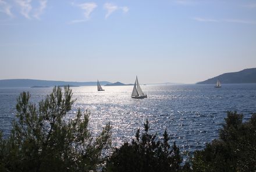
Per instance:
[[[254,67],[255,0],[0,0],[0,79],[195,83]]]

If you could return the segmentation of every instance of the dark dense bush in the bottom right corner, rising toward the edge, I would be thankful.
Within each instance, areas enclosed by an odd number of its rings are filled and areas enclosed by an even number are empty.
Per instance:
[[[195,151],[193,171],[256,171],[256,114],[243,123],[243,115],[227,112],[219,139]]]

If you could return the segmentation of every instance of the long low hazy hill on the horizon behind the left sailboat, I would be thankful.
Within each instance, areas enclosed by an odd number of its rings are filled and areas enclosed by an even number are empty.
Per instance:
[[[101,84],[105,85],[107,81],[102,81]],[[0,87],[51,87],[51,86],[95,86],[97,82],[66,82],[58,80],[37,80],[37,79],[3,79],[0,80]]]

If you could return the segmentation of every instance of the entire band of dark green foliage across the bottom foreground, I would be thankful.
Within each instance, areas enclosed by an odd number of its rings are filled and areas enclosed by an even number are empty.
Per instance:
[[[182,166],[182,156],[169,136],[150,134],[148,120],[144,131],[103,156],[111,145],[108,124],[96,138],[88,130],[90,112],[77,111],[69,119],[72,90],[54,87],[38,105],[29,103],[30,94],[17,98],[17,120],[10,137],[0,131],[0,171],[256,171],[256,114],[243,123],[243,115],[227,112],[219,138],[195,151]]]

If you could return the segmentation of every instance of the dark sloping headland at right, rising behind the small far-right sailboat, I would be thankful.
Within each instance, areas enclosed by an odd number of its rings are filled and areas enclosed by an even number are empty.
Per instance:
[[[215,76],[198,82],[198,84],[215,84],[217,80],[220,80],[221,83],[256,83],[256,68],[243,69],[239,72],[230,72]]]

